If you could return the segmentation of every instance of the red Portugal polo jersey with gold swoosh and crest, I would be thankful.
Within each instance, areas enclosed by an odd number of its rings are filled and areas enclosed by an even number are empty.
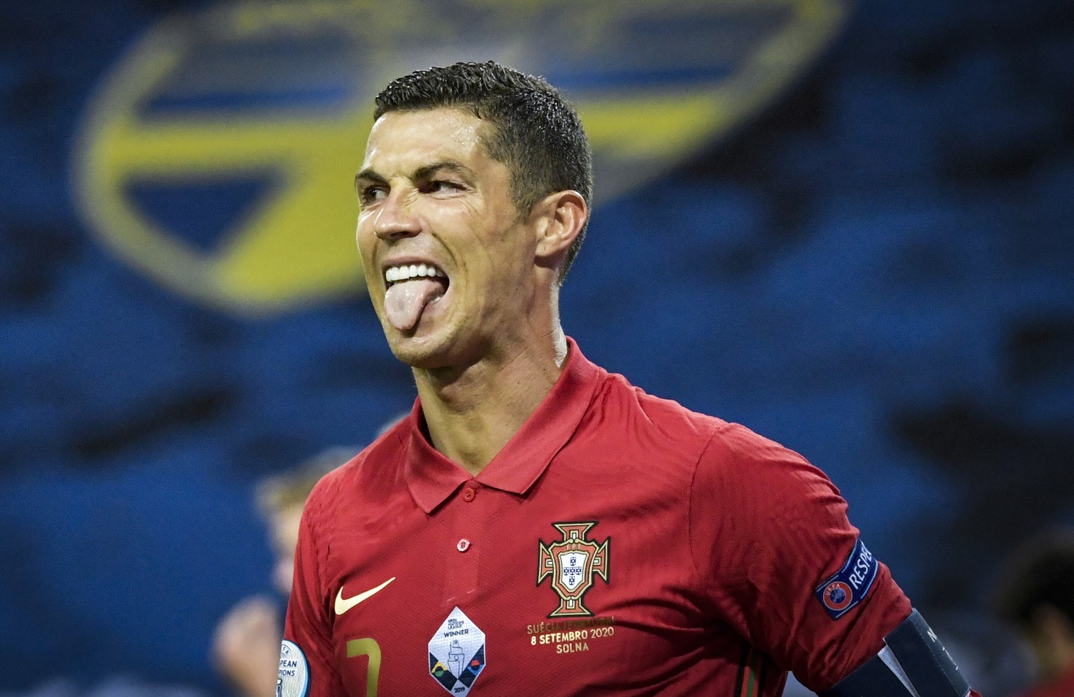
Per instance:
[[[309,697],[769,697],[837,683],[910,611],[819,470],[571,341],[478,476],[418,402],[321,480],[285,636]]]

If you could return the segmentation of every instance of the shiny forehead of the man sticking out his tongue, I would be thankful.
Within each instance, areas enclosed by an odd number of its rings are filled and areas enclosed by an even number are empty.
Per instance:
[[[456,108],[390,112],[369,131],[363,169],[390,176],[446,160],[477,165],[485,159],[481,134],[487,127]]]

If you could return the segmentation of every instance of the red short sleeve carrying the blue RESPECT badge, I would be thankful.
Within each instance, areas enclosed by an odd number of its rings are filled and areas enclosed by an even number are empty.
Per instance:
[[[879,561],[858,597],[836,588],[838,603],[825,599],[867,549],[846,508],[823,472],[736,424],[716,429],[691,490],[691,551],[716,619],[816,692],[871,658],[911,612]]]

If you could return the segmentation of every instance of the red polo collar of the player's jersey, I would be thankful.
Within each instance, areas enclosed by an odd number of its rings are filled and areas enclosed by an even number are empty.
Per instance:
[[[606,373],[590,362],[569,337],[567,346],[567,365],[552,386],[552,391],[476,477],[482,485],[525,494],[578,429]],[[475,477],[430,444],[422,432],[420,398],[415,401],[408,420],[410,438],[406,446],[406,481],[415,503],[430,514],[464,481]]]

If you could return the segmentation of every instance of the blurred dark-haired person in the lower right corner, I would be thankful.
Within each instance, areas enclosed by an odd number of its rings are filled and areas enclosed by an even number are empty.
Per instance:
[[[996,605],[1035,661],[1036,683],[1021,697],[1074,696],[1074,529],[1047,531],[1016,550]]]

